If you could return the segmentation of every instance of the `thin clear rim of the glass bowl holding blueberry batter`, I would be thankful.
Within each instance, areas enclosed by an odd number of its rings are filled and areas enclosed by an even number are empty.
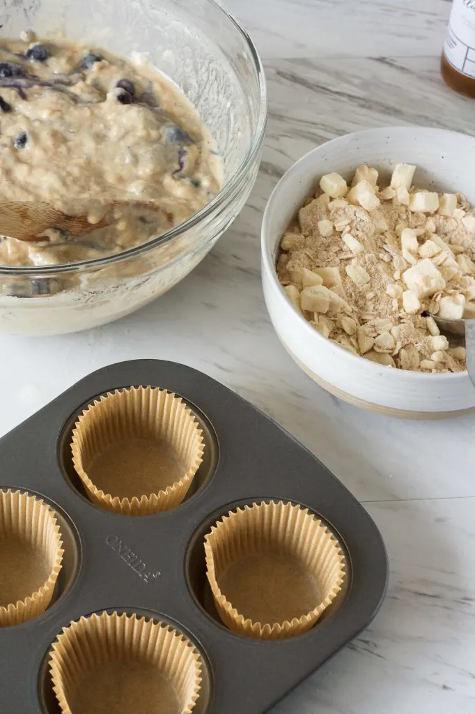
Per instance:
[[[134,256],[140,256],[142,253],[147,253],[149,250],[156,248],[158,246],[164,246],[166,243],[170,243],[174,238],[182,235],[190,228],[194,228],[201,223],[205,218],[208,218],[216,208],[219,208],[223,201],[228,200],[230,195],[235,191],[236,186],[242,181],[255,157],[260,151],[262,146],[262,141],[265,136],[265,127],[267,124],[267,85],[265,81],[265,71],[262,65],[262,60],[257,52],[256,46],[252,41],[250,34],[247,32],[242,23],[235,17],[235,15],[228,9],[223,7],[218,0],[208,0],[211,4],[215,6],[218,11],[222,12],[235,26],[237,32],[242,36],[245,43],[247,44],[247,49],[250,51],[250,56],[254,60],[257,86],[259,89],[259,104],[257,106],[257,126],[252,137],[252,145],[248,149],[245,158],[242,160],[239,168],[235,171],[235,174],[230,178],[228,183],[225,184],[224,188],[217,193],[217,195],[200,211],[193,213],[190,218],[188,218],[183,223],[179,223],[178,226],[170,228],[169,231],[165,231],[160,236],[156,238],[151,238],[146,243],[141,243],[139,246],[134,246],[133,248],[128,248],[126,251],[121,251],[119,253],[111,253],[111,255],[103,256],[101,258],[91,258],[86,261],[76,261],[75,263],[58,263],[58,265],[48,265],[48,266],[1,266],[0,265],[0,276],[53,276],[58,273],[73,273],[76,271],[82,271],[85,268],[102,268],[104,266],[109,266],[113,263],[118,263],[120,261],[126,260],[126,258],[131,258]]]

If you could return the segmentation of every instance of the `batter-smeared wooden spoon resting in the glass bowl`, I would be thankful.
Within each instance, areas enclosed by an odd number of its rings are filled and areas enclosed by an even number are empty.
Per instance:
[[[132,210],[160,211],[160,206],[148,201],[111,201],[105,218],[98,223],[89,223],[86,216],[66,216],[50,203],[44,201],[1,201],[0,200],[0,235],[16,238],[19,241],[35,243],[45,241],[41,233],[48,228],[68,231],[73,236],[96,231],[111,223],[113,216],[110,209],[115,206],[127,206]],[[103,206],[102,206],[103,207]],[[166,214],[168,216],[168,214]],[[109,221],[106,221],[109,218]]]

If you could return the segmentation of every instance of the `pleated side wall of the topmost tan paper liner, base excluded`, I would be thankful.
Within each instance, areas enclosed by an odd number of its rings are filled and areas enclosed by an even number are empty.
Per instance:
[[[91,481],[88,468],[94,458],[127,438],[166,441],[183,463],[170,473],[170,485],[158,488],[150,478],[150,493],[132,498],[104,493]],[[203,432],[183,400],[164,389],[150,386],[108,393],[86,408],[73,429],[73,465],[91,501],[101,508],[131,516],[145,516],[178,506],[203,461]],[[130,475],[133,483],[133,473]]]

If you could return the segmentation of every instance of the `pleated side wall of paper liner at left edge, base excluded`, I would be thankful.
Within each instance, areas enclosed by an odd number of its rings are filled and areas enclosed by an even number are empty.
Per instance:
[[[44,613],[53,596],[64,552],[54,511],[41,498],[8,489],[0,491],[0,576],[1,570],[8,567],[2,562],[1,543],[10,539],[38,553],[48,566],[49,574],[44,584],[35,590],[29,590],[28,584],[19,580],[19,590],[25,593],[14,603],[0,605],[0,627],[18,625]],[[21,562],[11,563],[10,578],[12,575],[24,578]]]

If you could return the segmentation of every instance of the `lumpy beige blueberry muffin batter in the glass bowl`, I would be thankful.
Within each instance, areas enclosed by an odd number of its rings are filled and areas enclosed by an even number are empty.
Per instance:
[[[80,236],[52,228],[35,243],[3,237],[4,266],[124,251],[183,223],[220,190],[208,132],[146,59],[31,35],[0,46],[0,156],[0,198],[46,201],[92,228]],[[108,225],[93,229],[105,216]]]

